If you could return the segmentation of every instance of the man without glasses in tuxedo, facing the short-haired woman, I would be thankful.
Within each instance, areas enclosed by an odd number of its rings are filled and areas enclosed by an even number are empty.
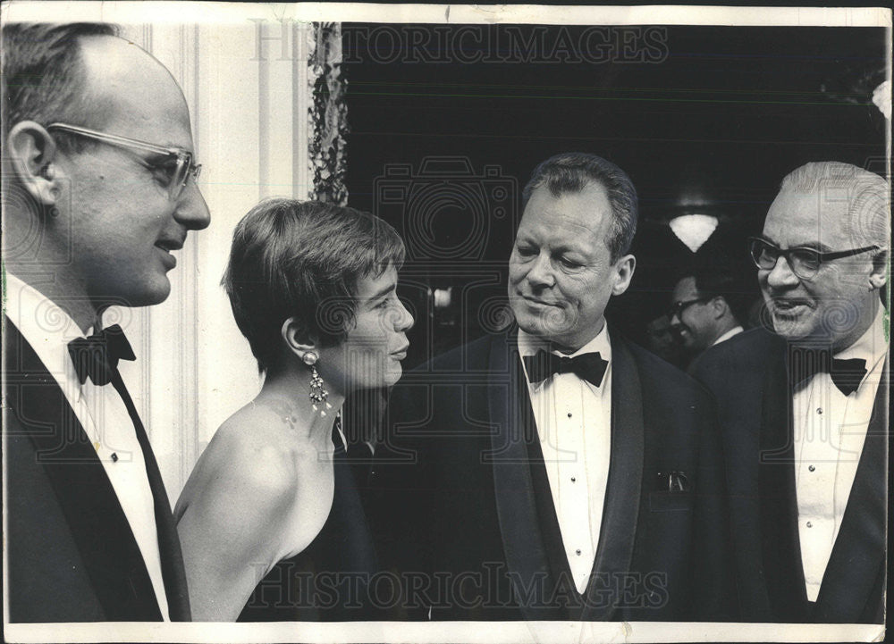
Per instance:
[[[630,284],[637,193],[588,154],[523,192],[509,301],[518,330],[399,383],[376,450],[380,554],[408,616],[720,619],[721,457],[708,397],[606,324]]]

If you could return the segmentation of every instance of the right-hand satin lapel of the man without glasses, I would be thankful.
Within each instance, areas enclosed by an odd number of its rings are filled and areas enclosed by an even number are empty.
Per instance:
[[[618,334],[611,336],[611,461],[599,546],[587,598],[609,597],[602,589],[615,588],[614,581],[631,571],[633,544],[643,484],[645,424],[643,391],[633,355]],[[581,619],[610,620],[614,601],[587,601]]]

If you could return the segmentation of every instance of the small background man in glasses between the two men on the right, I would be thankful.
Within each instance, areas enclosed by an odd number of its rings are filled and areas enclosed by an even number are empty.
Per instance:
[[[668,318],[690,359],[742,332],[733,309],[736,291],[733,276],[722,268],[699,268],[677,281]]]

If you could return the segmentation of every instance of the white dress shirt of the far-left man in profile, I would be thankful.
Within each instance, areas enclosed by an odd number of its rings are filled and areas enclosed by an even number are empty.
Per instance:
[[[58,383],[97,450],[115,496],[131,524],[162,618],[169,621],[158,552],[155,505],[131,415],[111,384],[97,387],[89,378],[80,384],[68,343],[83,334],[72,318],[12,273],[6,272],[5,279],[6,316]]]

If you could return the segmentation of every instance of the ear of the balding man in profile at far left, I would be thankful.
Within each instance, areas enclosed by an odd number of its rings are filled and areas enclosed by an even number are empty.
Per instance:
[[[6,138],[6,155],[21,187],[35,202],[55,205],[59,199],[61,181],[55,140],[49,132],[35,121],[16,123]]]

